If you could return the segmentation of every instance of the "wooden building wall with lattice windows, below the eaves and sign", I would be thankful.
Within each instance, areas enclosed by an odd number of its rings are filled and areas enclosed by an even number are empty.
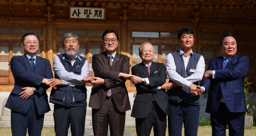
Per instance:
[[[163,17],[164,18],[164,17]],[[73,20],[68,18],[51,17],[22,17],[0,16],[0,85],[2,91],[11,91],[14,85],[10,67],[6,66],[17,51],[23,50],[20,44],[22,35],[26,32],[36,31],[40,36],[40,55],[47,58],[52,64],[54,55],[63,53],[62,36],[67,32],[78,35],[80,41],[80,55],[86,57],[91,64],[94,53],[104,51],[102,46],[102,33],[114,28],[119,33],[119,45],[117,51],[128,55],[130,67],[140,63],[138,57],[138,45],[150,42],[157,47],[157,55],[154,61],[165,63],[168,53],[179,50],[177,33],[181,28],[192,28],[195,35],[195,43],[192,50],[204,56],[206,69],[210,58],[221,55],[219,41],[225,32],[232,32],[238,39],[238,55],[246,55],[250,59],[247,77],[255,87],[255,41],[256,25],[244,23],[209,23],[209,22],[169,22],[169,21],[142,21],[142,20]],[[5,72],[4,72],[5,71]],[[93,71],[90,69],[90,75]],[[86,84],[90,86],[90,84]],[[128,91],[136,91],[134,85],[126,82]],[[50,89],[48,90],[50,91]]]

